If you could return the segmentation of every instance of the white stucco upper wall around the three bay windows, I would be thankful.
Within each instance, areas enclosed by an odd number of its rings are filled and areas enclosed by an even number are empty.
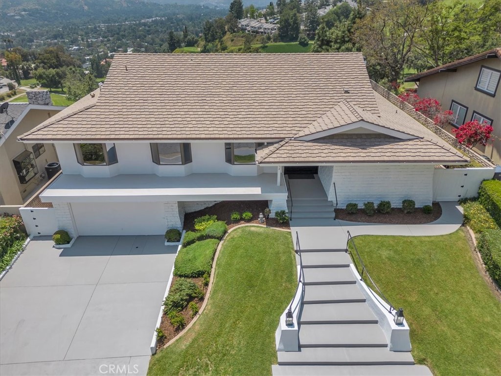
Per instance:
[[[115,143],[118,163],[110,166],[82,166],[78,163],[72,143],[57,143],[63,173],[86,177],[109,177],[118,174],[154,173],[159,176],[185,176],[190,173],[228,173],[254,176],[275,172],[277,167],[256,164],[232,165],[224,160],[224,142],[192,142],[192,162],[185,165],[157,165],[151,160],[148,142]]]

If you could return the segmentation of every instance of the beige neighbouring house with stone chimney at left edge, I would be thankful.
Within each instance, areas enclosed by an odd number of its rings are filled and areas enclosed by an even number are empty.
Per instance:
[[[8,105],[0,114],[0,205],[23,205],[47,182],[45,166],[58,162],[50,142],[23,143],[18,136],[66,107],[53,106],[48,91],[27,92],[29,103]]]

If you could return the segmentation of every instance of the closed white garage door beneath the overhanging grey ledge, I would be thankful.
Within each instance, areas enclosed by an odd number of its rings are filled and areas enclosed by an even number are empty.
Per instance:
[[[79,235],[163,235],[163,203],[72,203]]]

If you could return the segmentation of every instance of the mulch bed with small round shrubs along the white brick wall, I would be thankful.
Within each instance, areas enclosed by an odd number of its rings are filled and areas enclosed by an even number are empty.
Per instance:
[[[369,217],[363,209],[359,209],[357,214],[349,214],[346,209],[336,210],[336,219],[350,222],[386,223],[394,225],[422,225],[436,221],[442,215],[440,204],[433,203],[433,212],[424,214],[421,208],[416,208],[414,213],[405,214],[402,209],[394,208],[391,213],[376,213]]]

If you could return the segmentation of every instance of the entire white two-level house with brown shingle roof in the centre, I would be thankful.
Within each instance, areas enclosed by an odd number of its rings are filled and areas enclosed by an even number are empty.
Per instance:
[[[72,236],[163,234],[221,200],[273,215],[284,173],[318,174],[340,207],[421,207],[435,165],[468,161],[373,91],[360,53],[116,54],[105,85],[19,139],[56,146],[40,198]]]

